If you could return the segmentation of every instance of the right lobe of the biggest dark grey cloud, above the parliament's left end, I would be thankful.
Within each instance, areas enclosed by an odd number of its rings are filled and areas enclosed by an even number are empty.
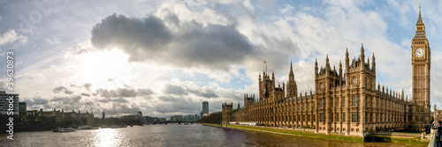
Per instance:
[[[228,70],[231,63],[244,60],[253,54],[248,38],[240,33],[235,26],[221,26],[191,21],[181,25],[177,40],[171,44],[171,57],[178,59],[174,64],[182,66],[203,66]]]

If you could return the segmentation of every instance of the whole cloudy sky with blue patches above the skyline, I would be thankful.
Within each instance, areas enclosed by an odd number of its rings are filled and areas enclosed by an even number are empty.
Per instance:
[[[442,108],[441,1],[423,1],[431,44],[431,105]],[[210,112],[257,93],[263,61],[277,83],[290,62],[298,92],[314,62],[376,56],[377,83],[411,95],[419,1],[1,1],[0,58],[13,51],[28,109],[170,116]],[[6,62],[0,70],[6,70]],[[5,73],[5,72],[3,72]],[[6,75],[0,75],[6,88]]]

